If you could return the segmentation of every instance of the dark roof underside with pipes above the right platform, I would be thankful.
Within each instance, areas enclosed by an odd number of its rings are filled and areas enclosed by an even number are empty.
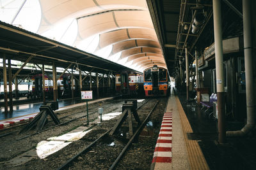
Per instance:
[[[214,43],[212,0],[147,0],[147,4],[170,76],[184,60],[186,46],[191,64],[195,48],[202,52]],[[221,13],[223,39],[241,36],[242,0],[221,1]]]

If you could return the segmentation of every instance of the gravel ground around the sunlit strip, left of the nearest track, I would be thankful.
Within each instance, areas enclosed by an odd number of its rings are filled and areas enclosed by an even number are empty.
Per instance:
[[[145,102],[145,101],[144,101]],[[118,100],[118,101],[113,101],[111,103],[97,103],[97,104],[90,104],[90,108],[95,108],[95,111],[97,111],[98,107],[104,108],[104,113],[109,113],[109,112],[117,112],[117,111],[122,111],[122,104],[124,104],[124,100]],[[138,104],[140,106],[140,104]],[[84,109],[83,109],[84,110]],[[90,112],[93,112],[93,109]],[[70,114],[70,112],[67,113],[61,113],[61,116],[67,116]],[[79,117],[82,115],[86,115],[86,111],[81,111],[81,109],[76,109],[72,110],[72,113],[77,113],[77,114],[72,114],[74,117]],[[90,122],[98,118],[98,113],[93,113],[90,115]],[[60,117],[60,115],[58,115]],[[118,117],[117,117],[118,118]],[[7,160],[12,159],[13,157],[16,157],[17,155],[20,155],[21,153],[24,153],[28,150],[31,150],[36,147],[36,145],[40,142],[43,141],[49,137],[52,136],[60,136],[61,134],[65,134],[66,132],[72,131],[73,129],[76,129],[76,127],[79,127],[81,125],[86,124],[87,118],[79,118],[75,121],[72,121],[68,124],[61,125],[58,127],[53,127],[52,129],[49,129],[47,131],[41,132],[40,134],[36,134],[34,136],[29,136],[29,138],[21,139],[20,141],[17,141],[16,139],[20,139],[24,136],[27,136],[28,134],[31,134],[33,132],[27,132],[24,134],[15,134],[15,135],[9,135],[2,137],[1,140],[3,141],[3,145],[0,146],[0,150],[4,154],[0,154],[0,169],[56,169],[59,167],[61,164],[63,164],[67,159],[75,155],[81,148],[84,148],[84,146],[87,146],[92,142],[94,139],[99,137],[102,133],[106,132],[107,129],[110,129],[113,127],[113,125],[116,123],[116,118],[113,120],[108,120],[102,122],[102,125],[100,127],[96,126],[97,124],[92,124],[94,129],[99,129],[98,132],[93,134],[92,132],[89,132],[84,136],[84,138],[74,141],[70,145],[66,146],[65,148],[61,149],[60,151],[53,153],[49,157],[46,157],[45,159],[33,159],[26,164],[23,164],[21,166],[17,167],[10,167],[9,164],[5,164]],[[51,127],[51,124],[54,125],[53,122],[49,122],[47,124],[47,127]],[[19,127],[20,128],[20,127]],[[19,129],[15,128],[15,130]],[[100,133],[102,132],[102,133]]]

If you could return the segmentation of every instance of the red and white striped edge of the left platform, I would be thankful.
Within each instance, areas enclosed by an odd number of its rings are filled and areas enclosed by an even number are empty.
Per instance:
[[[0,121],[0,129],[8,128],[12,125],[23,124],[24,122],[29,122],[29,120],[33,119],[37,114],[38,113],[34,113],[24,117],[9,118],[8,120]]]

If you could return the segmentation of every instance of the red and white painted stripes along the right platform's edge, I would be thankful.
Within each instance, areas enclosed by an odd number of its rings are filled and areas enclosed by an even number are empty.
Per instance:
[[[172,113],[164,113],[152,165],[172,163]]]

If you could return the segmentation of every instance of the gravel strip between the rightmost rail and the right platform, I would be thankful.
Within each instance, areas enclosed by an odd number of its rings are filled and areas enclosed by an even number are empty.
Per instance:
[[[156,109],[149,118],[152,126],[147,124],[141,131],[138,143],[132,143],[129,150],[122,157],[116,169],[150,169],[156,141],[160,131],[161,122],[166,108],[166,99],[159,99]]]

